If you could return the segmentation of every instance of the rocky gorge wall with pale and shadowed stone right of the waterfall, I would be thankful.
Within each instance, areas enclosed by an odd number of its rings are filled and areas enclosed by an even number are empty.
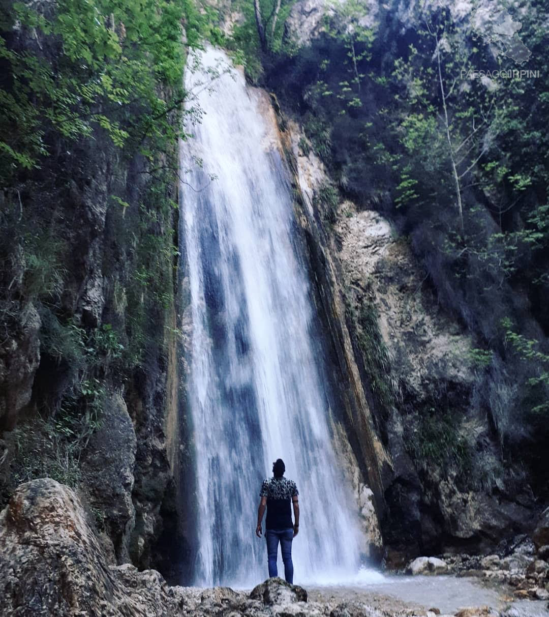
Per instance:
[[[434,11],[444,14],[445,6]],[[460,41],[462,49],[468,44],[473,8],[461,3],[447,9],[455,30],[446,25],[440,36],[447,37],[449,53],[448,41]],[[534,23],[540,17],[534,6],[519,14]],[[395,59],[406,57],[408,46],[426,54],[412,69],[416,75],[436,58],[422,47],[421,15],[413,4],[366,3],[357,17],[329,3],[297,2],[284,36],[297,41],[298,51],[267,60],[260,78],[278,95],[297,220],[307,238],[334,366],[345,375],[347,434],[374,492],[387,563],[393,565],[421,552],[501,548],[510,537],[532,531],[547,499],[537,475],[547,433],[540,416],[524,412],[525,366],[509,347],[494,342],[502,337],[499,320],[507,313],[520,315],[522,332],[545,349],[539,302],[530,303],[518,276],[513,281],[498,273],[499,287],[480,283],[486,275],[472,274],[474,259],[466,276],[477,276],[480,288],[464,292],[456,283],[460,274],[453,267],[444,271],[444,260],[459,263],[468,247],[453,251],[451,240],[426,246],[429,234],[444,237],[436,217],[424,206],[422,223],[421,210],[399,205],[395,184],[387,182],[399,154],[383,135],[402,123],[392,137],[397,141],[410,110],[391,102],[406,101],[399,97],[407,92],[387,92],[385,84],[395,79]],[[497,56],[498,50],[490,53]],[[351,56],[361,59],[360,78]],[[349,81],[342,87],[344,77]],[[506,231],[501,218],[494,229],[490,213],[493,200],[506,199],[503,184],[500,191],[498,197],[464,193],[471,212],[481,212],[474,224],[491,233]],[[492,205],[479,205],[483,200]],[[448,202],[438,207],[443,212]],[[483,284],[493,293],[478,305]],[[482,363],[479,354],[487,347]]]

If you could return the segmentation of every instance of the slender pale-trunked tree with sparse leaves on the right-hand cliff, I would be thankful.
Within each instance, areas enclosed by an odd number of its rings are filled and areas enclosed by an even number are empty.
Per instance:
[[[396,96],[402,102],[408,101],[400,140],[413,159],[412,164],[402,168],[397,205],[415,201],[418,194],[412,187],[431,175],[445,193],[453,187],[463,238],[464,184],[495,136],[495,95],[484,85],[468,83],[463,87],[461,73],[475,51],[464,45],[461,31],[456,30],[447,13],[426,14],[419,35],[421,53],[410,45],[408,58],[395,61],[394,77],[406,93]],[[431,58],[432,65],[426,64],[425,58]],[[416,162],[423,165],[423,170]],[[429,191],[427,199],[435,194],[440,194],[440,188],[434,193]]]

